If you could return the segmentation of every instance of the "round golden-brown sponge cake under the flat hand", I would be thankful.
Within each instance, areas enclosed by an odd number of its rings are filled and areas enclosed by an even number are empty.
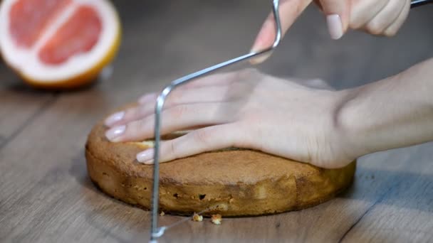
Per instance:
[[[105,139],[106,129],[102,121],[96,124],[85,145],[91,180],[108,195],[149,210],[152,165],[137,162],[135,156],[152,142],[112,143]],[[355,167],[353,161],[344,168],[324,169],[239,148],[200,153],[160,164],[160,210],[223,217],[300,210],[348,188]]]

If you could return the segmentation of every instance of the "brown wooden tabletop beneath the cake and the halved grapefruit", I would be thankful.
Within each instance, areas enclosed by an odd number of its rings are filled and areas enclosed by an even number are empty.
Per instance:
[[[32,90],[0,64],[0,242],[147,242],[148,212],[100,193],[83,148],[110,109],[245,53],[268,1],[116,1],[124,26],[113,74],[75,92]],[[320,77],[338,89],[393,75],[433,54],[433,6],[414,9],[395,38],[350,32],[330,41],[308,9],[258,68]],[[244,68],[246,65],[237,65]],[[161,217],[162,224],[178,217]],[[433,144],[360,158],[347,193],[280,215],[185,222],[161,242],[433,241]]]

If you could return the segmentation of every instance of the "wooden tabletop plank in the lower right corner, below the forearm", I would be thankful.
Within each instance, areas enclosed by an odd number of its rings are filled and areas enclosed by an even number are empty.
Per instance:
[[[433,143],[367,156],[365,171],[389,186],[379,197],[364,196],[370,205],[343,242],[431,242]]]

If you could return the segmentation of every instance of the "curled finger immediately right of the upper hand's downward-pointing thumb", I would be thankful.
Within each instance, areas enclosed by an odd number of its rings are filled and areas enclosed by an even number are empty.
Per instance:
[[[349,28],[360,29],[364,27],[377,13],[382,11],[389,0],[352,1],[350,8]]]

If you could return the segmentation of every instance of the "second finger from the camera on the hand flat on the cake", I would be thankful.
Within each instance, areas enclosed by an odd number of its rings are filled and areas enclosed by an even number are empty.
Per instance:
[[[162,112],[161,134],[181,131],[194,126],[209,126],[227,122],[224,114],[217,114],[226,104],[187,104],[171,107]],[[115,126],[105,132],[108,140],[113,142],[142,141],[150,139],[155,129],[155,114],[128,124]]]

